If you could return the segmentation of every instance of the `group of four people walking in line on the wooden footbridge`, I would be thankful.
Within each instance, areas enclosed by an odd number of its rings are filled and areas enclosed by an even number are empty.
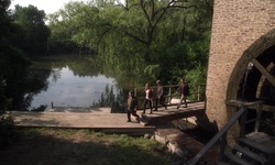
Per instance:
[[[154,111],[157,111],[158,102],[165,109],[167,109],[167,105],[165,103],[164,99],[164,91],[161,80],[156,80],[156,92],[154,95],[153,89],[150,87],[148,84],[145,84],[145,100],[143,103],[143,113],[146,112],[146,106],[148,103],[150,106],[150,114],[153,113],[153,100],[155,99],[155,109]],[[180,94],[180,100],[178,102],[177,109],[180,107],[182,102],[184,101],[184,108],[187,108],[186,98],[189,95],[189,86],[185,84],[185,79],[180,79],[180,85],[178,88],[178,91]],[[136,108],[138,108],[138,98],[134,96],[134,92],[131,90],[129,91],[129,98],[128,98],[128,105],[127,105],[127,114],[128,114],[128,122],[131,122],[131,114],[135,117],[136,121],[140,121],[140,117],[136,114]]]

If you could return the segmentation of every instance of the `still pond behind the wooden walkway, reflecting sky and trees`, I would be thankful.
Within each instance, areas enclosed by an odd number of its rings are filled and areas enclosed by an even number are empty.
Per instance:
[[[42,77],[45,86],[36,94],[25,95],[25,98],[32,97],[29,110],[42,107],[47,111],[52,105],[54,107],[111,106],[112,101],[123,102],[129,87],[131,88],[131,85],[123,88],[116,77],[106,76],[92,57],[84,55],[34,58],[31,72]]]

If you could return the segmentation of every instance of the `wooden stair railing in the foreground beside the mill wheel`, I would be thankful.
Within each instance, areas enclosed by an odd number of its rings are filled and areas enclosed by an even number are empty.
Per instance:
[[[257,105],[257,116],[255,119],[246,121],[248,108],[251,106]],[[188,163],[188,165],[196,165],[199,161],[206,155],[206,153],[212,148],[218,142],[220,142],[220,153],[219,160],[224,157],[224,150],[227,145],[227,133],[228,130],[240,120],[241,129],[240,129],[240,136],[245,134],[245,124],[255,122],[255,131],[258,130],[260,127],[260,118],[262,116],[262,107],[263,101],[254,101],[254,102],[243,102],[240,110],[229,120],[229,122],[218,132],[210,142],[206,144],[206,146]]]

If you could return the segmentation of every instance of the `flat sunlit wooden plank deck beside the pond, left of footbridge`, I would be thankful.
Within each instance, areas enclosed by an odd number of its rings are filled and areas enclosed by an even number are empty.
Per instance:
[[[155,127],[127,122],[125,113],[12,111],[11,117],[15,127],[23,128],[89,129],[103,133],[133,135],[153,133],[155,130]]]

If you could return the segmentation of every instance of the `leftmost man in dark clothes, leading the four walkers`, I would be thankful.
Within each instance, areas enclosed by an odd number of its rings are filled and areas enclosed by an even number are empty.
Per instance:
[[[132,90],[129,91],[129,98],[127,101],[127,117],[128,121],[131,122],[131,114],[135,117],[135,120],[140,122],[140,117],[136,114],[138,99]]]

